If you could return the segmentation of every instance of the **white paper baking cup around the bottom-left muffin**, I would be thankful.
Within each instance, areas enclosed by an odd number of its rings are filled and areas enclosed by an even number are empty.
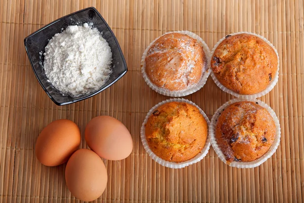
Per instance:
[[[152,109],[150,109],[150,111],[147,113],[147,115],[146,115],[146,117],[145,117],[145,119],[144,119],[144,121],[142,123],[141,130],[140,130],[140,138],[141,138],[141,142],[142,142],[143,148],[146,150],[146,152],[148,153],[148,155],[153,160],[155,160],[159,164],[161,164],[163,166],[166,166],[166,167],[169,167],[169,168],[183,168],[185,166],[188,166],[188,165],[191,165],[193,163],[199,162],[200,160],[202,160],[208,154],[208,151],[209,151],[209,148],[210,148],[210,145],[211,145],[210,144],[210,136],[209,136],[209,134],[207,134],[206,144],[205,144],[204,148],[202,149],[202,151],[198,155],[196,155],[195,157],[193,157],[192,159],[184,161],[184,162],[180,162],[180,163],[174,163],[174,162],[166,161],[166,160],[158,157],[155,153],[153,153],[153,151],[151,151],[151,149],[150,149],[150,147],[149,147],[149,145],[147,143],[146,136],[145,136],[145,124],[147,123],[147,120],[150,117],[150,115],[158,107],[162,106],[163,104],[172,102],[172,101],[178,101],[178,102],[188,103],[188,104],[191,104],[191,105],[195,106],[196,108],[198,108],[199,111],[200,111],[200,113],[205,118],[205,120],[207,122],[207,126],[209,128],[210,121],[209,121],[208,117],[203,112],[203,110],[201,110],[196,104],[194,104],[192,101],[189,101],[189,100],[184,99],[184,98],[171,98],[171,99],[167,99],[167,100],[164,100],[164,101],[160,102],[159,104],[155,105]]]

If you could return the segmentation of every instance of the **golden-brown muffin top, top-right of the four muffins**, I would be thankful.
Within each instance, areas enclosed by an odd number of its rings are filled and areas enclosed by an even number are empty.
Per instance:
[[[262,39],[248,34],[226,36],[211,58],[218,81],[239,94],[263,91],[275,77],[278,57]]]

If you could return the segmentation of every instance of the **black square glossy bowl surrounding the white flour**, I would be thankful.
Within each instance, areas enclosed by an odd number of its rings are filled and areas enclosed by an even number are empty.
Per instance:
[[[44,56],[41,53],[45,52],[45,47],[49,43],[49,40],[52,39],[56,33],[62,32],[69,25],[83,25],[85,22],[92,22],[93,27],[96,27],[100,31],[101,36],[109,44],[112,51],[112,74],[107,82],[97,91],[77,97],[62,95],[50,82],[47,81],[48,79],[42,66]],[[24,45],[37,80],[54,103],[59,106],[72,104],[76,101],[81,101],[98,94],[117,82],[127,73],[127,64],[115,35],[100,13],[93,7],[80,10],[51,22],[26,37],[24,39]]]

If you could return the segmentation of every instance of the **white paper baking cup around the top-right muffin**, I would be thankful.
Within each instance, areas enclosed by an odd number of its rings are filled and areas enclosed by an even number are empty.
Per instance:
[[[273,44],[271,44],[266,38],[260,36],[260,35],[257,35],[256,33],[252,33],[252,32],[235,32],[235,33],[232,33],[232,34],[229,34],[231,36],[234,36],[234,35],[239,35],[239,34],[249,34],[249,35],[254,35],[260,39],[262,39],[263,41],[265,41],[267,44],[269,44],[276,52],[277,54],[277,57],[278,57],[278,68],[277,68],[277,72],[275,74],[275,76],[272,78],[272,81],[271,83],[266,87],[266,89],[264,89],[263,91],[261,92],[258,92],[258,93],[255,93],[255,94],[239,94],[237,92],[234,92],[232,91],[231,89],[228,89],[226,88],[225,86],[223,86],[216,78],[215,74],[213,73],[212,71],[212,68],[211,68],[211,64],[210,65],[210,75],[213,79],[213,81],[215,82],[215,84],[221,89],[223,90],[224,92],[227,92],[227,93],[230,93],[238,98],[246,98],[246,99],[249,99],[249,98],[257,98],[257,97],[260,97],[260,96],[263,96],[265,94],[267,94],[268,92],[270,92],[274,87],[275,85],[277,84],[278,80],[279,80],[279,66],[280,66],[280,60],[279,60],[279,54],[278,54],[278,51],[277,49],[274,47]],[[213,57],[213,54],[216,50],[216,48],[218,47],[218,45],[224,40],[226,39],[226,37],[223,37],[222,39],[220,39],[216,44],[215,46],[213,47],[212,51],[211,51],[211,55],[210,55],[210,62],[211,62],[211,58]]]

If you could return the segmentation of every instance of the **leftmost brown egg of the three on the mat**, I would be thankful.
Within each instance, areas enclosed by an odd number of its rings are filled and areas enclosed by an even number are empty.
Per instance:
[[[78,149],[80,142],[80,130],[73,121],[56,120],[48,124],[39,134],[35,154],[44,165],[60,165]]]

